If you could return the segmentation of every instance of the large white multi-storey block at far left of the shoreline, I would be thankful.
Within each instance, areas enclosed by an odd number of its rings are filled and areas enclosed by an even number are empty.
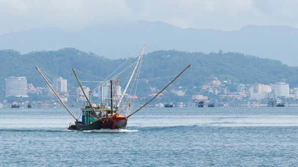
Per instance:
[[[5,97],[9,96],[28,97],[26,77],[5,78]]]

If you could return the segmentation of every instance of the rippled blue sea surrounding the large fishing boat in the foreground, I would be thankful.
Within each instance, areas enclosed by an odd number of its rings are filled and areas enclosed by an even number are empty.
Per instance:
[[[70,122],[63,109],[0,109],[0,166],[298,166],[298,108],[145,108],[125,130]]]

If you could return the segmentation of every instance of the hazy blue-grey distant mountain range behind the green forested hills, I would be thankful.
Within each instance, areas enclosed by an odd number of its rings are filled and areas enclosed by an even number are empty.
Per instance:
[[[136,21],[121,25],[97,25],[76,32],[55,28],[11,32],[0,36],[0,49],[13,49],[26,54],[73,47],[108,58],[124,58],[147,43],[145,53],[172,49],[204,53],[223,50],[277,59],[290,66],[298,66],[297,39],[298,29],[289,26],[251,25],[224,32]]]

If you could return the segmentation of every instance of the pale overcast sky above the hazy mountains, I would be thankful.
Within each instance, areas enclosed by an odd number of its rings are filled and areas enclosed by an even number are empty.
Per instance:
[[[298,28],[297,7],[298,0],[0,0],[0,35],[134,20],[224,31],[246,25]]]

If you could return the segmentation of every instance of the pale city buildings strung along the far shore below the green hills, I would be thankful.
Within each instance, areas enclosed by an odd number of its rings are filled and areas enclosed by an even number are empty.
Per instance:
[[[231,92],[230,91],[230,84],[234,84],[233,86],[236,86],[236,91]],[[52,82],[52,87],[54,90],[59,93],[59,96],[64,102],[68,101],[69,97],[69,91],[68,91],[68,84],[67,79],[63,79],[62,77],[59,77],[57,79],[54,79]],[[202,85],[200,87],[194,87],[195,89],[198,89],[200,91],[199,94],[195,94],[191,96],[191,101],[188,105],[185,103],[179,102],[177,105],[181,107],[185,106],[194,106],[194,102],[196,101],[204,101],[205,103],[210,103],[210,97],[209,95],[219,95],[219,101],[221,99],[232,99],[232,100],[264,100],[264,99],[270,99],[270,98],[279,98],[279,97],[285,97],[285,98],[293,98],[298,99],[298,88],[290,88],[290,85],[285,82],[277,82],[274,84],[260,84],[256,83],[253,85],[244,85],[244,84],[235,84],[231,83],[230,80],[221,81],[216,77],[213,77],[213,81],[210,83],[207,83],[205,85]],[[115,99],[118,99],[121,96],[121,86],[116,86],[114,91],[116,92]],[[151,90],[151,94],[148,96],[154,96],[154,94],[158,91],[154,87],[149,88]],[[98,88],[96,88],[97,91],[91,91],[89,87],[83,86],[83,90],[86,94],[89,92],[92,93],[92,96],[96,98],[99,102],[104,102],[105,99],[109,98],[110,96],[110,84],[107,83],[105,85],[102,85]],[[179,87],[178,90],[175,90],[172,88],[170,92],[175,93],[177,96],[185,96],[185,90],[182,90],[182,87]],[[44,94],[48,97],[54,98],[55,94],[54,92],[49,88],[43,88],[43,87],[34,87],[32,83],[27,84],[27,79],[24,76],[21,77],[14,77],[11,76],[9,78],[5,78],[5,97],[28,97],[28,93],[34,93],[34,94]],[[204,95],[202,95],[204,94]],[[118,96],[118,97],[117,97]],[[160,94],[162,97],[163,94]],[[138,96],[127,96],[130,100],[133,99],[139,99]],[[146,98],[146,97],[141,97]],[[86,101],[85,96],[83,95],[82,90],[80,87],[76,88],[76,100],[77,101]]]

